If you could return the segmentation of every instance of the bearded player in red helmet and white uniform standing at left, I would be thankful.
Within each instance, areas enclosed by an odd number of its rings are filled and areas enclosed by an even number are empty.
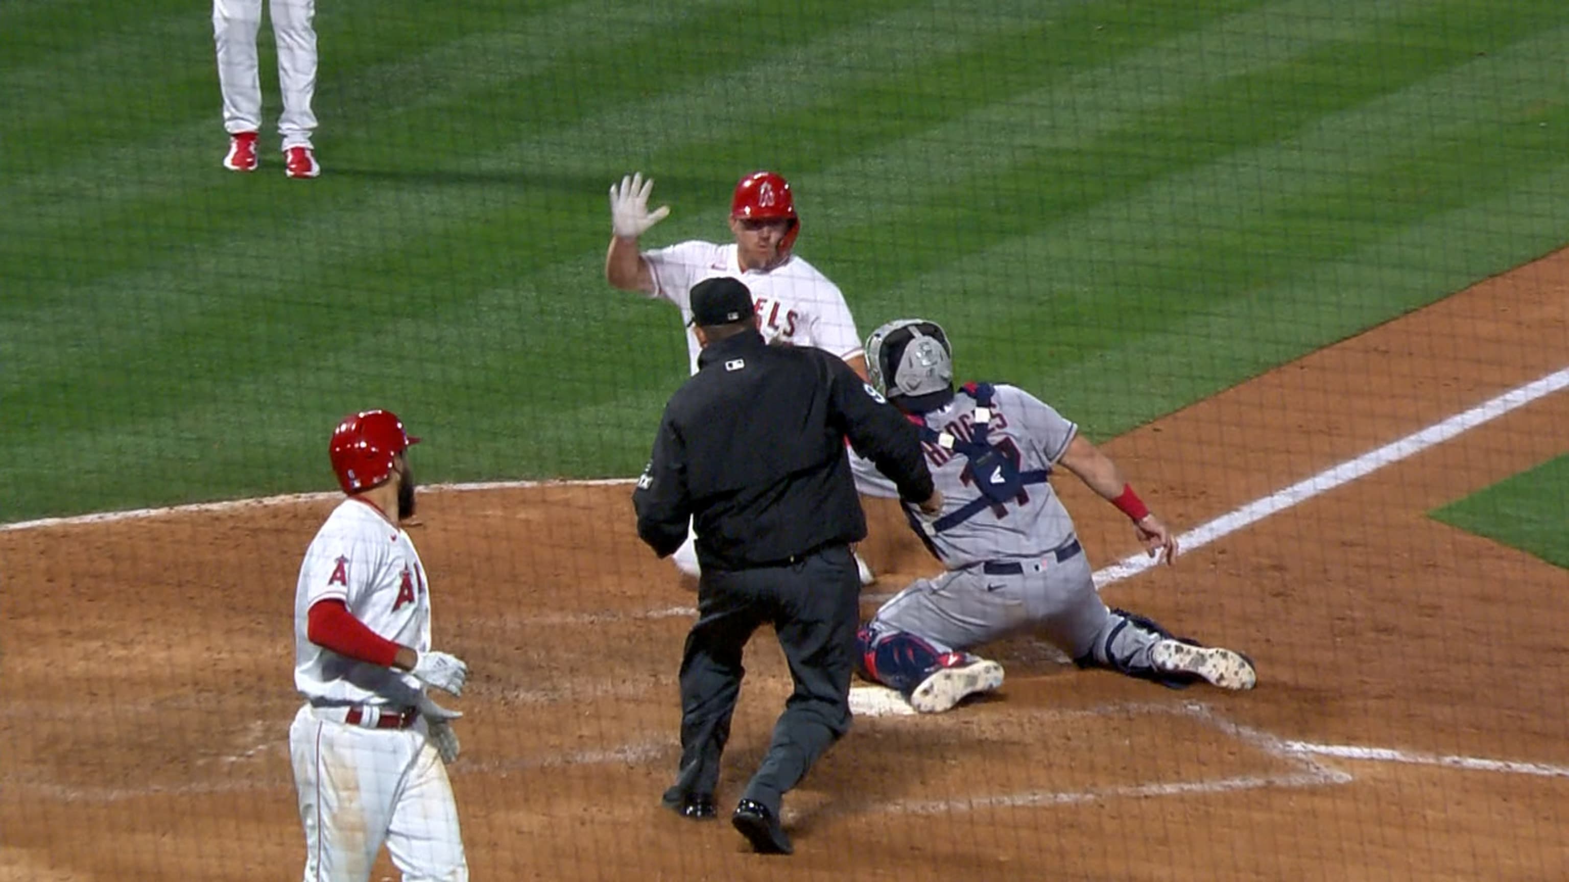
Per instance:
[[[430,650],[430,584],[399,526],[414,513],[405,460],[419,441],[397,416],[345,417],[329,455],[348,496],[306,549],[295,590],[295,687],[289,728],[304,882],[362,882],[386,843],[405,882],[468,879],[446,763],[458,756],[449,711],[468,665]]]

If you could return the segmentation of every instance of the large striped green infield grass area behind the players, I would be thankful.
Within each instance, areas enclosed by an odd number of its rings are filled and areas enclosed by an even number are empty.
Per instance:
[[[0,6],[0,521],[329,487],[344,411],[427,480],[634,474],[676,315],[601,278],[640,168],[723,239],[797,190],[861,333],[1108,436],[1558,246],[1569,8],[1520,0],[322,5],[322,179],[218,168],[210,22]],[[766,39],[739,39],[767,35]],[[328,480],[323,480],[328,479]]]

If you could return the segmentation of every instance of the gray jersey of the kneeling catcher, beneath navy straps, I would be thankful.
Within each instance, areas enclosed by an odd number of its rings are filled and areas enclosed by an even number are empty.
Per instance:
[[[974,425],[976,400],[965,392],[941,410],[926,414],[926,425],[968,439]],[[1056,466],[1078,425],[1051,405],[1017,386],[995,385],[987,443],[1001,449],[1021,472],[1047,471]],[[923,441],[932,483],[943,493],[943,510],[949,515],[981,496],[974,487],[970,461],[954,450]],[[868,496],[897,496],[893,482],[877,472],[868,460],[850,457],[855,487]],[[908,507],[908,505],[907,505]],[[1050,483],[1025,487],[1006,505],[988,505],[971,518],[941,532],[927,534],[937,557],[949,570],[960,570],[987,560],[1039,559],[1073,538],[1073,518],[1058,499]]]

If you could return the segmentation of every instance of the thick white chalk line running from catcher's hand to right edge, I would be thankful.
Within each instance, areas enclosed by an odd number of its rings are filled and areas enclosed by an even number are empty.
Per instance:
[[[1509,389],[1508,392],[1483,402],[1465,413],[1454,414],[1420,432],[1414,432],[1400,441],[1384,444],[1378,450],[1362,454],[1354,460],[1327,468],[1307,480],[1299,480],[1285,490],[1277,490],[1276,493],[1265,496],[1263,499],[1255,499],[1241,508],[1178,535],[1177,541],[1186,549],[1202,548],[1246,526],[1255,524],[1269,515],[1277,515],[1293,505],[1307,502],[1321,493],[1329,493],[1343,483],[1367,477],[1384,466],[1398,463],[1426,450],[1428,447],[1442,444],[1464,432],[1470,432],[1484,422],[1494,421],[1566,386],[1569,386],[1569,367],[1555,370],[1534,383]],[[1155,563],[1156,560],[1144,552],[1130,554],[1117,563],[1098,570],[1095,573],[1095,585],[1105,587],[1112,582],[1120,582],[1122,579],[1136,576],[1150,567],[1155,567]]]

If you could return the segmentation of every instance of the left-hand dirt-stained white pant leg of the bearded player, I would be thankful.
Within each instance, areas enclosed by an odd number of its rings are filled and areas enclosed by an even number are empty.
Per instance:
[[[395,756],[378,749],[377,742],[394,741],[384,734],[317,719],[309,705],[295,714],[289,758],[304,826],[306,882],[370,877],[399,772]],[[380,775],[389,778],[384,786],[377,785]]]

